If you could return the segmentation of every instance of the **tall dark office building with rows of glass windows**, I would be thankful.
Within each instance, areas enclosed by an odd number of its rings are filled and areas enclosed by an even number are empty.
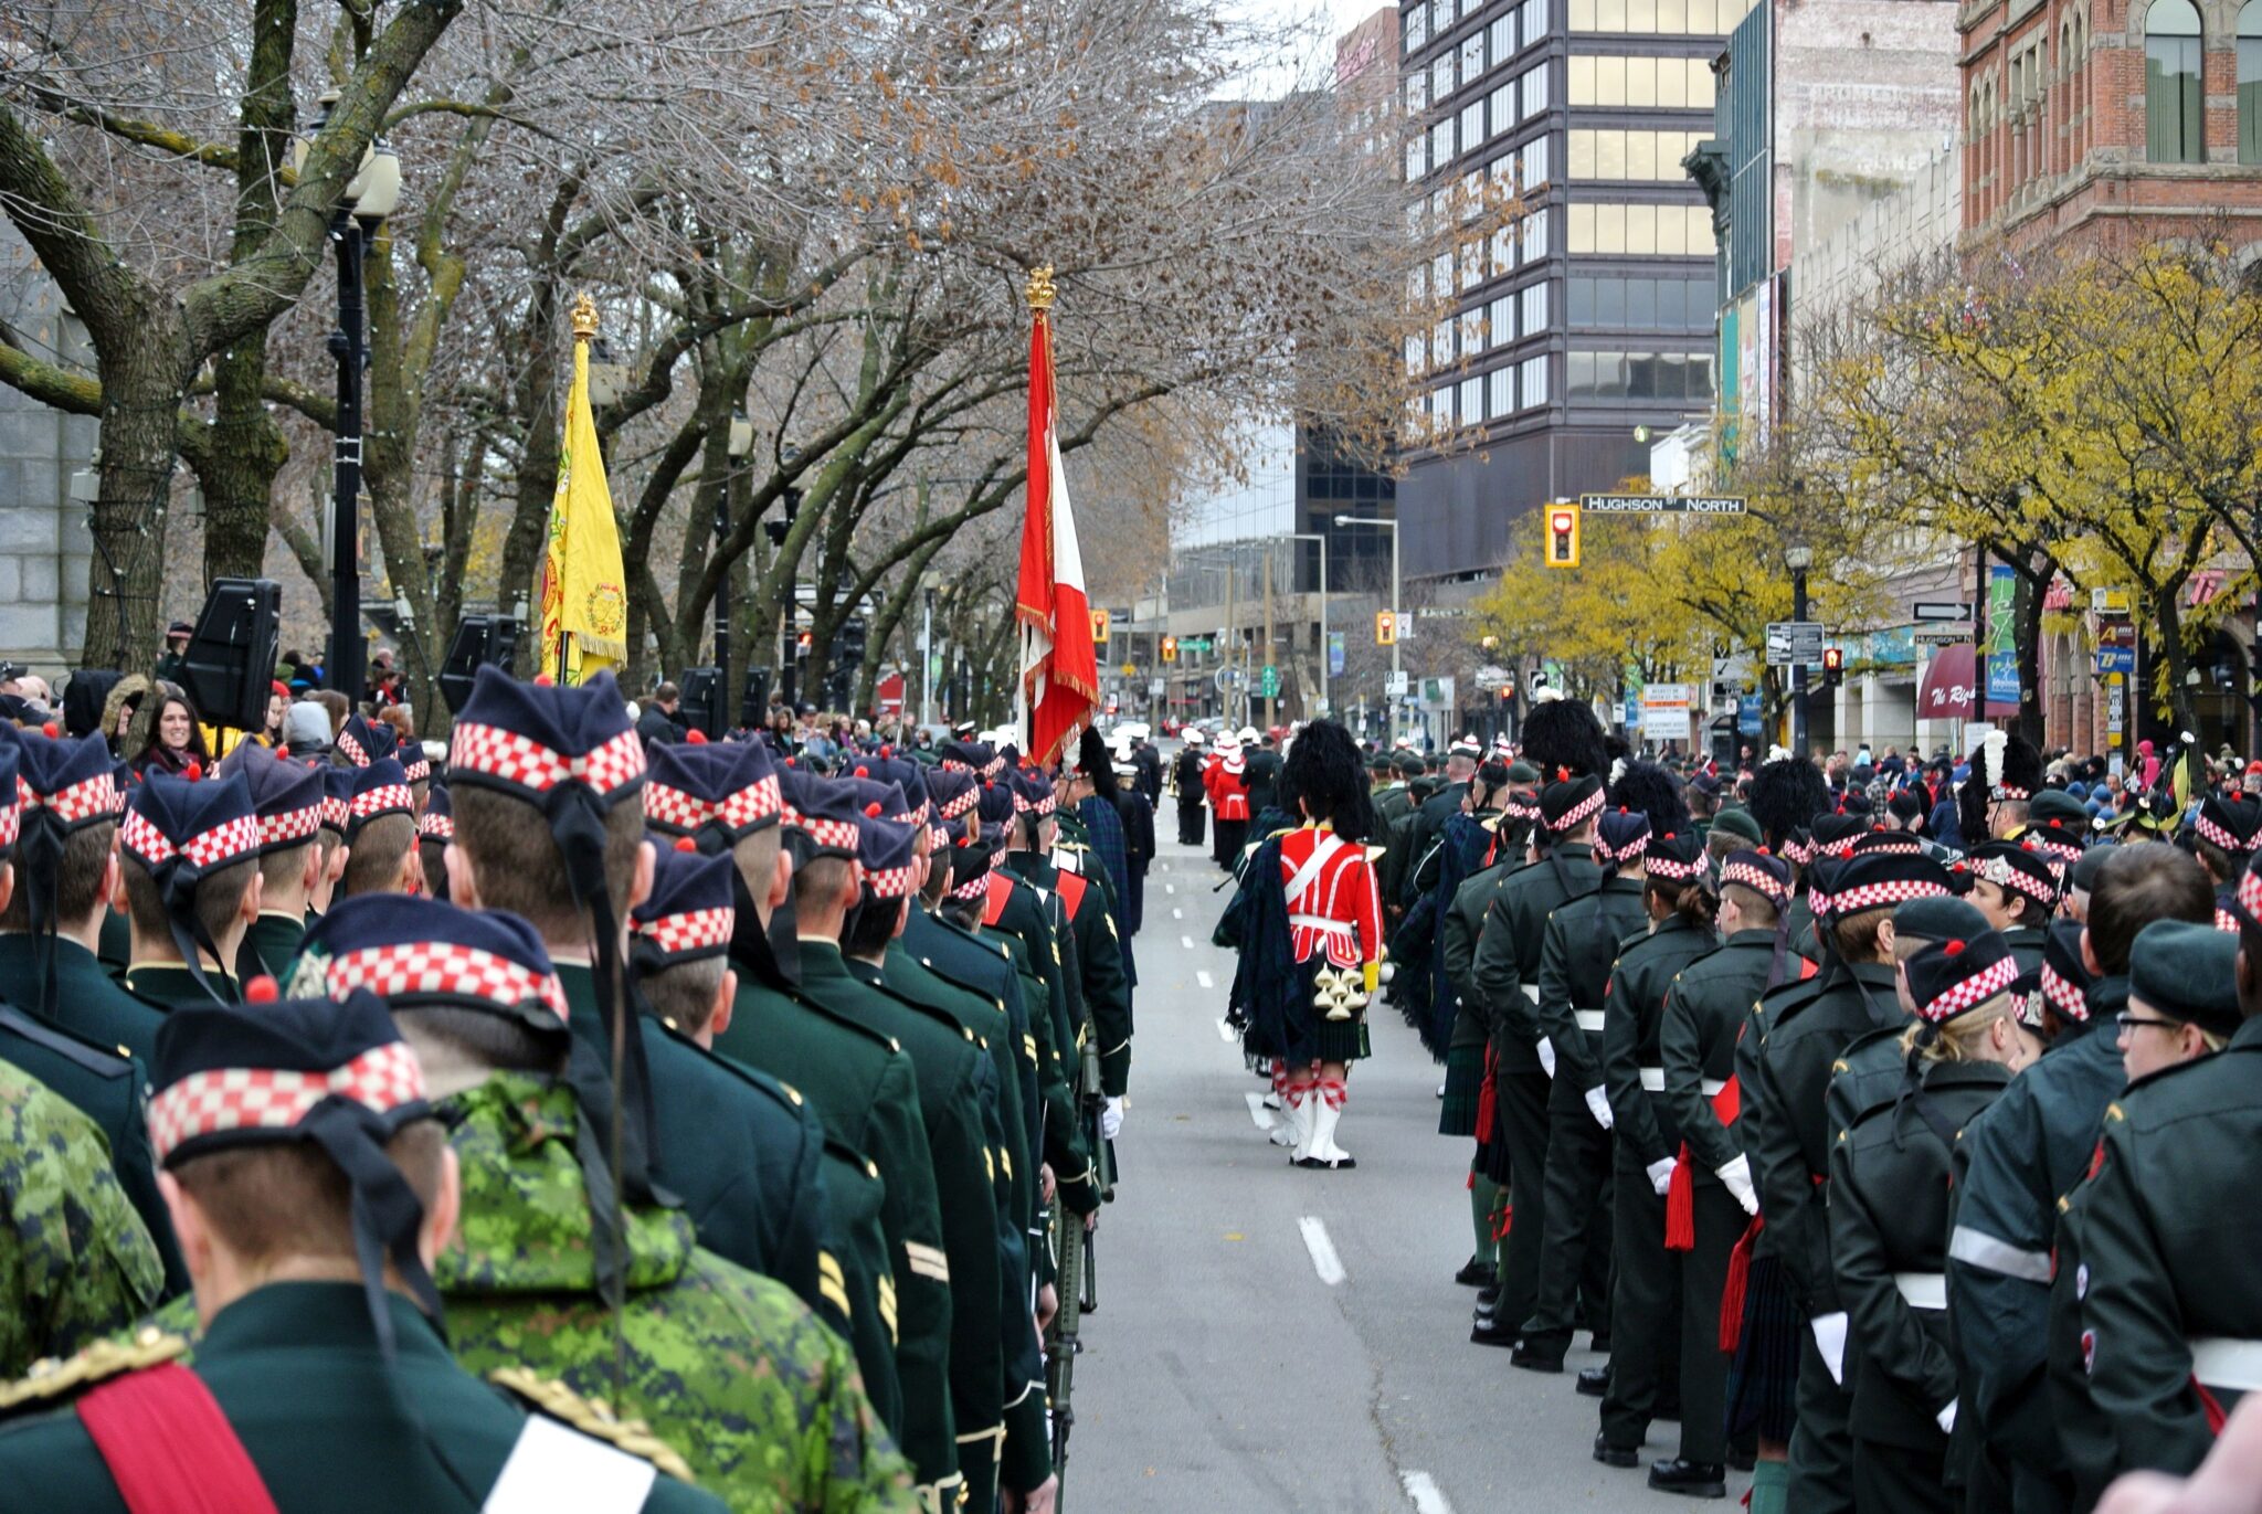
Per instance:
[[[1414,269],[1427,310],[1398,489],[1405,573],[1477,582],[1543,500],[1642,473],[1638,428],[1712,407],[1712,222],[1681,158],[1746,0],[1400,7],[1407,222],[1468,235]]]

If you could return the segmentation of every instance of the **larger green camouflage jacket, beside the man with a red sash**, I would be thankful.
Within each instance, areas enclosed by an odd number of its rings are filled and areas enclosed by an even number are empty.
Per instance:
[[[848,1344],[785,1285],[699,1249],[681,1213],[624,1215],[627,1376],[615,1380],[568,1086],[498,1073],[441,1111],[464,1218],[437,1274],[466,1369],[523,1362],[642,1419],[740,1514],[918,1507]]]

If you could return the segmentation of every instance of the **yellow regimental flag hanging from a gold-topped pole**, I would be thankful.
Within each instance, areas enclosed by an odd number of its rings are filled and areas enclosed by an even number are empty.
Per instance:
[[[588,407],[588,342],[597,306],[584,294],[572,310],[572,394],[566,396],[566,446],[559,491],[550,502],[550,550],[543,554],[543,656],[536,672],[559,683],[586,683],[629,661],[629,575],[620,561],[613,489],[604,482],[597,416]]]

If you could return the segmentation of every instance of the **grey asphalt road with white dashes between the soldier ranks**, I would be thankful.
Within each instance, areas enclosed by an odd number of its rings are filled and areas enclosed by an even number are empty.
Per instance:
[[[1264,1141],[1264,1084],[1219,1036],[1221,874],[1176,844],[1167,794],[1163,808],[1070,1514],[1687,1507],[1590,1457],[1597,1401],[1572,1371],[1599,1358],[1579,1349],[1563,1376],[1536,1376],[1468,1344],[1475,1292],[1452,1274],[1470,1251],[1470,1143],[1436,1134],[1441,1070],[1396,1009],[1373,1023],[1337,1129],[1357,1170],[1296,1170]],[[1676,1444],[1656,1426],[1644,1464]],[[1746,1482],[1730,1473],[1728,1498]]]

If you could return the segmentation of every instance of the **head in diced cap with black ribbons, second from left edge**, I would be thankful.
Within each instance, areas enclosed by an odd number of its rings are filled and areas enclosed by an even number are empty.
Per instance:
[[[161,1009],[242,998],[231,969],[260,914],[258,844],[242,776],[192,783],[154,772],[133,785],[118,821],[129,993]]]

